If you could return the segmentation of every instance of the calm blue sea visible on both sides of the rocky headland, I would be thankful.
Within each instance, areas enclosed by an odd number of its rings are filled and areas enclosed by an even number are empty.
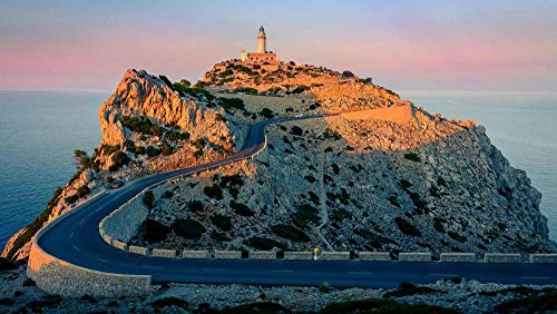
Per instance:
[[[76,171],[74,150],[100,143],[98,108],[110,91],[0,90],[0,246],[41,213]],[[557,91],[427,91],[401,97],[486,126],[510,164],[543,194],[557,241]]]

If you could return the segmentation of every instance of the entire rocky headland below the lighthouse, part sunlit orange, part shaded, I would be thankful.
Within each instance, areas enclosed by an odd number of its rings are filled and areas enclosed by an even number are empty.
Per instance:
[[[350,71],[224,61],[197,87],[128,70],[100,107],[102,143],[3,256],[114,179],[237,150],[250,122],[267,148],[166,185],[134,243],[164,248],[555,252],[540,194],[473,121],[449,120]]]

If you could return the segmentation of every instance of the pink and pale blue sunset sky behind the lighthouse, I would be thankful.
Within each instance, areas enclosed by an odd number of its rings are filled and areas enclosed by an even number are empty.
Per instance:
[[[395,3],[390,3],[395,2]],[[114,90],[128,68],[199,79],[254,51],[393,90],[557,90],[557,1],[0,0],[0,89]]]

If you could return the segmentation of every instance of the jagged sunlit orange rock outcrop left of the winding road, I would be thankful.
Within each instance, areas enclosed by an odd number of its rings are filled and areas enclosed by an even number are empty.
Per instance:
[[[116,91],[100,106],[102,140],[95,154],[78,158],[81,169],[57,192],[40,217],[10,238],[2,256],[27,257],[40,226],[106,188],[113,179],[127,180],[234,153],[244,140],[247,124],[219,107],[209,108],[212,99],[211,95],[184,95],[144,70],[126,71]]]

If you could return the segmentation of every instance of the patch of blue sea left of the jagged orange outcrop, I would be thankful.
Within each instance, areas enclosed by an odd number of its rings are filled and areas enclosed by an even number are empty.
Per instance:
[[[41,213],[76,173],[74,150],[100,141],[109,92],[0,90],[0,246]]]

